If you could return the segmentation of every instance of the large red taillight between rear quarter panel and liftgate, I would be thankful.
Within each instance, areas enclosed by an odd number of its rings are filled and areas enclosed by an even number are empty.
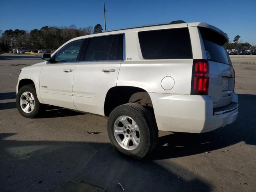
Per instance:
[[[192,95],[208,95],[209,87],[209,64],[207,60],[193,61],[191,94]]]

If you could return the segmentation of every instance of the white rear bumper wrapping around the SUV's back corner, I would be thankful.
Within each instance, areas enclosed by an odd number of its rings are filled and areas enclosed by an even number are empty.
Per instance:
[[[231,124],[238,116],[236,93],[232,98],[234,105],[219,109],[213,109],[210,96],[149,94],[158,130],[203,133]]]

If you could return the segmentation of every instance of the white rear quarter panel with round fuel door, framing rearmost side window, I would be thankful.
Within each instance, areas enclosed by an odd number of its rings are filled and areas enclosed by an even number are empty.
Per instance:
[[[185,28],[187,25],[168,26],[170,29],[180,27]],[[156,29],[166,29],[166,27],[150,28],[150,30]],[[140,29],[140,31],[146,30],[149,29]],[[134,86],[154,93],[190,94],[193,59],[145,60],[140,50],[138,31],[127,30],[125,36],[126,60],[121,62],[117,86]],[[161,86],[165,77],[173,79],[167,82],[170,84],[170,89]]]

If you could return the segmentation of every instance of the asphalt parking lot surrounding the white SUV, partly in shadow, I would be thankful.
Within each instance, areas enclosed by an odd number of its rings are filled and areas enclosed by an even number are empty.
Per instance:
[[[256,190],[256,55],[231,55],[236,122],[204,134],[160,132],[149,156],[132,160],[108,140],[107,118],[48,107],[41,118],[16,109],[21,68],[38,56],[0,55],[0,191],[54,192],[88,182],[108,192]],[[100,132],[92,134],[92,132]]]

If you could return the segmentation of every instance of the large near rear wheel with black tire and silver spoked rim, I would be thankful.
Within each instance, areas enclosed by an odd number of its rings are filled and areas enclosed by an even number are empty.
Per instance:
[[[141,159],[157,144],[155,118],[146,107],[139,104],[120,105],[108,118],[108,137],[116,150]]]

